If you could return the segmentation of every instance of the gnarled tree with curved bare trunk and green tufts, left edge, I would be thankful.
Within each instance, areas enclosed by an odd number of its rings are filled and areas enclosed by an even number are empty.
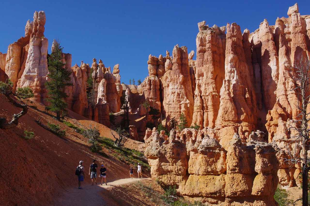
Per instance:
[[[4,95],[15,107],[22,109],[20,113],[13,115],[11,122],[6,123],[7,122],[6,118],[0,118],[0,128],[9,129],[15,127],[18,124],[19,118],[28,112],[27,99],[34,96],[33,92],[29,87],[18,88],[17,90],[13,90],[12,82],[10,80],[7,80],[6,82],[0,81],[0,93]],[[15,101],[14,97],[16,97],[17,100],[22,102],[23,104]]]

